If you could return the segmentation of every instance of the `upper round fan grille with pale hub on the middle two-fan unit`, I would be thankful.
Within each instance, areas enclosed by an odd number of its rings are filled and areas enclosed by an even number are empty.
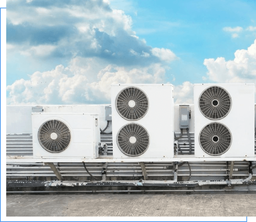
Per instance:
[[[130,86],[119,92],[115,107],[124,119],[138,120],[148,111],[148,97],[141,89]]]

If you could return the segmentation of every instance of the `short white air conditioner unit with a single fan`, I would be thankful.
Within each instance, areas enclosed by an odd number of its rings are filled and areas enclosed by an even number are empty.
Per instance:
[[[98,157],[98,114],[32,113],[32,134],[34,158]]]

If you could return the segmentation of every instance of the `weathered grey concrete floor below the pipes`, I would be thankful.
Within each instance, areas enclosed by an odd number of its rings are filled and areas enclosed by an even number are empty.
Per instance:
[[[256,194],[8,195],[6,216],[256,216]]]

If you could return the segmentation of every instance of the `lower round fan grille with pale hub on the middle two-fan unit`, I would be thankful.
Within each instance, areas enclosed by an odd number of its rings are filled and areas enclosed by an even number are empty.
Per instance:
[[[139,156],[148,148],[148,131],[140,124],[128,123],[118,131],[117,145],[124,154]]]

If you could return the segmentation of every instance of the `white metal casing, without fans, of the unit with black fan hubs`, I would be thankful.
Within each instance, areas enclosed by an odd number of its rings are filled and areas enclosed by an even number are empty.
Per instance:
[[[210,86],[220,86],[229,92],[232,106],[230,112],[222,119],[206,118],[200,111],[198,99],[201,93]],[[221,83],[194,84],[194,125],[195,157],[254,157],[254,84]],[[199,134],[204,126],[211,122],[220,122],[229,128],[232,134],[230,148],[218,156],[207,154],[200,146]]]

